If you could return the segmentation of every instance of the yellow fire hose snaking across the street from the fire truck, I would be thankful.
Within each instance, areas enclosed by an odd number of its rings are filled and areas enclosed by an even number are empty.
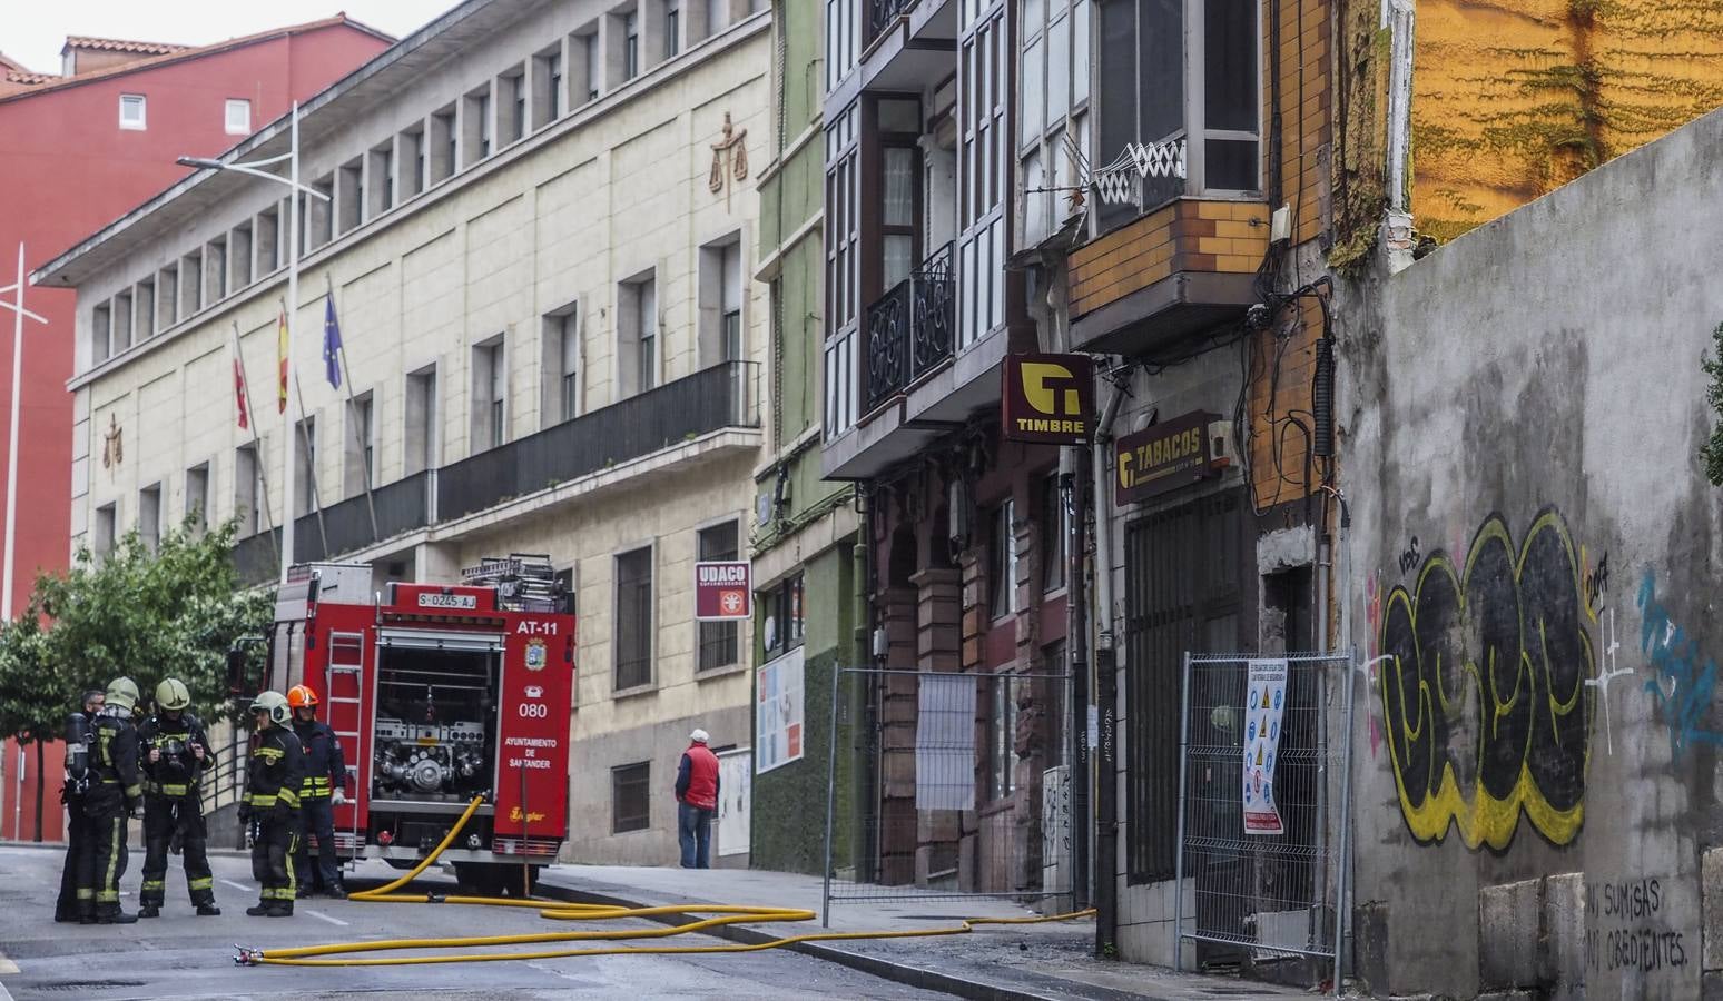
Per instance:
[[[1094,910],[1072,911],[1067,915],[1051,915],[1039,918],[965,918],[956,925],[944,929],[920,929],[910,932],[818,932],[806,936],[786,936],[782,939],[772,939],[770,942],[756,944],[734,944],[727,942],[722,946],[601,946],[601,948],[581,948],[581,949],[544,949],[534,953],[462,953],[462,954],[432,954],[432,956],[391,956],[391,958],[357,958],[350,953],[381,953],[391,949],[465,949],[465,948],[488,948],[488,946],[543,946],[551,942],[612,942],[612,941],[629,941],[629,939],[667,939],[672,936],[686,936],[689,932],[703,932],[706,929],[715,929],[722,925],[753,925],[767,922],[812,922],[818,915],[805,908],[768,908],[768,906],[737,906],[737,905],[677,905],[677,906],[658,906],[658,908],[622,908],[612,905],[574,905],[574,903],[557,903],[546,906],[546,901],[536,899],[508,899],[508,898],[489,898],[489,896],[438,896],[438,894],[419,894],[419,892],[395,892],[401,886],[412,882],[420,872],[424,872],[431,863],[436,861],[443,849],[455,841],[460,829],[467,825],[472,813],[479,808],[484,798],[476,798],[467,805],[467,811],[460,815],[460,820],[450,832],[443,837],[443,842],[424,858],[412,872],[401,875],[400,879],[389,882],[388,886],[379,886],[377,889],[367,889],[350,894],[346,899],[351,901],[369,901],[369,903],[450,903],[450,905],[481,905],[481,906],[501,906],[501,908],[536,908],[539,917],[551,920],[570,920],[570,922],[601,922],[615,918],[651,918],[658,915],[717,915],[689,922],[686,925],[665,925],[660,929],[622,929],[613,932],[538,932],[522,936],[469,936],[455,939],[384,939],[377,942],[333,942],[327,946],[296,946],[288,949],[253,949],[245,946],[234,946],[238,954],[233,958],[234,963],[243,967],[257,965],[274,965],[274,967],[401,967],[410,963],[495,963],[498,960],[562,960],[567,956],[619,956],[619,954],[706,954],[706,953],[758,953],[762,949],[777,949],[782,946],[793,946],[796,942],[846,942],[856,939],[920,939],[932,936],[967,936],[975,930],[975,925],[1036,925],[1044,922],[1065,922],[1072,918],[1082,918],[1094,913]],[[339,956],[339,958],[329,958]]]

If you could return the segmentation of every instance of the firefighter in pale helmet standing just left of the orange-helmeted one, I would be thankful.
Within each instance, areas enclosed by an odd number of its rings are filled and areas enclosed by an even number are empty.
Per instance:
[[[293,851],[300,829],[300,784],[305,755],[288,722],[288,696],[265,691],[252,699],[257,736],[246,774],[239,820],[252,824],[252,875],[260,884],[255,908],[245,913],[269,918],[293,917]]]

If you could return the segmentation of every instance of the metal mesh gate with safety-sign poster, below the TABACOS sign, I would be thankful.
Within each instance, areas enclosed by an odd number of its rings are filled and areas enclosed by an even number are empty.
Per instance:
[[[1330,718],[1327,696],[1339,689],[1340,715]],[[1335,960],[1346,941],[1337,905],[1351,830],[1353,656],[1187,653],[1182,693],[1175,879],[1191,880],[1196,906],[1175,894],[1179,944],[1258,961]]]

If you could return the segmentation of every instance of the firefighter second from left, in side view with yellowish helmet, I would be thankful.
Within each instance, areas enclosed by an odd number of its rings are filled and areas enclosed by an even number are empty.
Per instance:
[[[90,791],[84,793],[86,848],[79,863],[78,917],[83,923],[129,925],[138,915],[119,910],[119,877],[126,874],[126,822],[143,805],[138,770],[138,731],[131,725],[138,686],[115,677],[95,724],[90,749]],[[86,896],[88,894],[88,896]]]

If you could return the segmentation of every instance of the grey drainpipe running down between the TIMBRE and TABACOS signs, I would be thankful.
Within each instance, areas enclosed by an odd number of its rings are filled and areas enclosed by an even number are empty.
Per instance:
[[[1094,748],[1096,813],[1094,813],[1094,948],[1098,956],[1117,941],[1118,929],[1118,672],[1113,656],[1113,517],[1108,498],[1111,469],[1108,453],[1113,446],[1113,420],[1129,395],[1129,376],[1113,377],[1113,395],[1101,410],[1094,429],[1094,457],[1089,462],[1089,496],[1094,510],[1094,718],[1098,722]]]

